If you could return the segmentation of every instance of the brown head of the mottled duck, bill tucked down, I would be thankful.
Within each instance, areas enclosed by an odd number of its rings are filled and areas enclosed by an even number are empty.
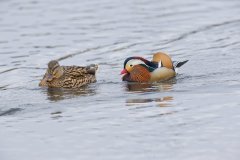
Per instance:
[[[52,60],[48,63],[46,74],[46,81],[51,82],[53,79],[60,78],[63,75],[63,68],[59,65],[58,61]]]

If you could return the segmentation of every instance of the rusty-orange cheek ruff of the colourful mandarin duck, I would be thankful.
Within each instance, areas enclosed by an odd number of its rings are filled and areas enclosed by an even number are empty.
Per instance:
[[[136,65],[130,72],[129,78],[131,82],[149,82],[151,75],[147,67]]]

